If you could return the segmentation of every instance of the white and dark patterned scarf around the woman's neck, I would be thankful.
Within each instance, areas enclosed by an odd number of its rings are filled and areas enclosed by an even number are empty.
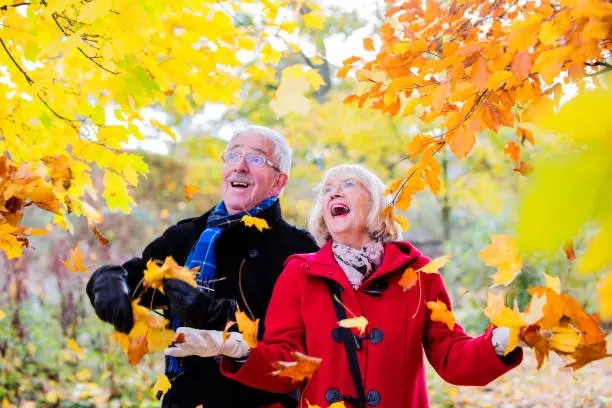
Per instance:
[[[337,242],[332,242],[332,252],[353,289],[357,290],[361,282],[367,279],[380,266],[385,254],[385,248],[380,241],[376,240],[366,242],[361,249],[354,249]]]

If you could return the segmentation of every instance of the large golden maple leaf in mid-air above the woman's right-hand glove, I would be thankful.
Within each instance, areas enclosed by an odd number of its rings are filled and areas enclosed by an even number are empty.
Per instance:
[[[478,253],[480,259],[498,271],[492,275],[494,285],[508,285],[521,270],[523,260],[516,247],[516,242],[506,235],[491,235],[492,245]]]

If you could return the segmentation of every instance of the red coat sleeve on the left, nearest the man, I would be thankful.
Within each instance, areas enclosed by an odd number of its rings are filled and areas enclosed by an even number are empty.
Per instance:
[[[297,384],[287,377],[270,375],[275,361],[292,361],[291,352],[305,354],[304,323],[301,316],[302,261],[291,260],[278,278],[266,314],[263,341],[251,350],[241,366],[229,358],[221,361],[221,372],[250,387],[285,393]]]

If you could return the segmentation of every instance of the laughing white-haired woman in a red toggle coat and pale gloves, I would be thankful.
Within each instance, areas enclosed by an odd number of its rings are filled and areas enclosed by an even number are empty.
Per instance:
[[[432,319],[429,301],[451,304],[439,274],[420,274],[404,291],[400,277],[429,258],[397,241],[384,185],[358,165],[329,169],[320,183],[309,220],[322,248],[293,255],[274,287],[263,341],[256,348],[233,333],[181,328],[186,342],[167,354],[223,354],[222,371],[246,385],[289,392],[290,378],[273,376],[272,363],[292,361],[298,351],[322,359],[310,380],[300,383],[300,406],[426,407],[424,355],[449,383],[483,386],[517,366],[522,350],[504,356],[508,331],[497,328],[472,338],[458,324]],[[350,311],[347,316],[346,310]],[[366,331],[340,328],[346,317],[364,316]],[[244,361],[240,361],[244,360]]]

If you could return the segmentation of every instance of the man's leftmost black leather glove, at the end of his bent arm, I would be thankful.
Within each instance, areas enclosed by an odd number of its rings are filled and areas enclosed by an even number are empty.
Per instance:
[[[103,266],[87,282],[87,295],[98,317],[129,333],[134,326],[127,271],[120,266]]]

